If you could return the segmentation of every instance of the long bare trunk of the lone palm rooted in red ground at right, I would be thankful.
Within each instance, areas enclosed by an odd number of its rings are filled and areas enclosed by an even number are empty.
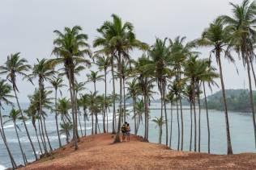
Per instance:
[[[228,153],[228,155],[231,155],[231,154],[233,154],[233,150],[232,150],[231,137],[230,137],[230,131],[229,131],[228,108],[227,108],[226,93],[225,93],[225,87],[224,87],[224,81],[223,81],[223,75],[222,75],[220,52],[217,52],[216,57],[217,57],[219,67],[220,67],[220,82],[221,82],[222,96],[223,96],[223,102],[224,102],[224,114],[225,114],[226,132],[227,132],[227,146],[228,146],[227,153]]]

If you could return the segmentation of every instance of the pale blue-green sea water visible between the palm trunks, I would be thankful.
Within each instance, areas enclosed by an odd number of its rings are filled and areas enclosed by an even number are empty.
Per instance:
[[[26,107],[26,105],[23,105]],[[153,108],[159,108],[159,104],[152,104]],[[170,106],[168,106],[170,107]],[[8,112],[10,108],[5,108],[4,114]],[[131,107],[128,107],[131,110]],[[168,111],[168,124],[170,126],[171,118],[170,112]],[[132,113],[130,114],[131,117]],[[160,110],[151,110],[150,113],[152,118],[160,117]],[[206,111],[202,110],[201,114],[201,151],[207,152],[207,119],[206,119]],[[241,152],[254,152],[254,129],[253,129],[253,121],[252,115],[249,113],[235,113],[228,112],[229,123],[230,123],[230,131],[231,131],[231,139],[233,145],[234,153]],[[189,150],[190,145],[190,110],[183,110],[183,118],[184,118],[184,150]],[[198,118],[198,116],[197,116]],[[82,118],[83,119],[83,118]],[[210,127],[211,127],[211,153],[214,154],[225,154],[227,150],[226,143],[226,132],[225,132],[225,123],[224,123],[224,113],[221,111],[209,110],[209,119],[210,119]],[[194,120],[194,117],[193,117]],[[131,131],[133,131],[134,121],[128,118],[128,122],[130,122]],[[193,121],[194,122],[194,121]],[[83,120],[82,130],[84,133]],[[99,118],[100,128],[102,131],[102,118]],[[20,125],[20,122],[19,122]],[[53,146],[53,148],[58,147],[58,136],[56,132],[56,126],[54,121],[54,114],[49,114],[46,119],[47,131],[49,132],[49,140]],[[140,125],[139,135],[143,135],[143,126]],[[19,136],[21,139],[21,143],[24,151],[28,157],[28,160],[34,160],[32,154],[32,148],[28,143],[28,138],[23,129],[23,125],[20,125],[22,131],[19,132]],[[35,143],[36,151],[40,151],[37,143],[36,143],[36,135],[32,128],[32,123],[28,121],[28,128],[30,130],[30,135],[32,136],[32,141]],[[194,126],[193,126],[194,128]],[[87,122],[87,135],[89,135],[92,131],[91,122]],[[112,114],[109,113],[109,131],[112,129]],[[170,128],[169,128],[170,129]],[[9,147],[11,147],[11,152],[15,157],[15,161],[17,164],[23,164],[22,157],[19,151],[18,140],[15,136],[15,130],[12,123],[8,123],[4,126],[4,131],[6,132],[7,142],[9,143]],[[158,143],[158,127],[156,124],[149,121],[149,141],[152,143]],[[80,133],[80,131],[79,131]],[[194,133],[194,129],[193,129]],[[193,134],[194,135],[194,134]],[[65,135],[62,135],[62,143],[65,143]],[[194,139],[194,136],[193,136]],[[165,143],[165,126],[163,126],[163,139],[162,143]],[[194,143],[194,141],[193,141]],[[176,110],[173,110],[173,135],[172,135],[172,148],[177,149],[177,113]],[[194,144],[192,144],[192,149],[194,148]],[[2,139],[0,138],[0,170],[4,167],[10,167],[11,163],[6,153],[6,148],[3,145]]]

